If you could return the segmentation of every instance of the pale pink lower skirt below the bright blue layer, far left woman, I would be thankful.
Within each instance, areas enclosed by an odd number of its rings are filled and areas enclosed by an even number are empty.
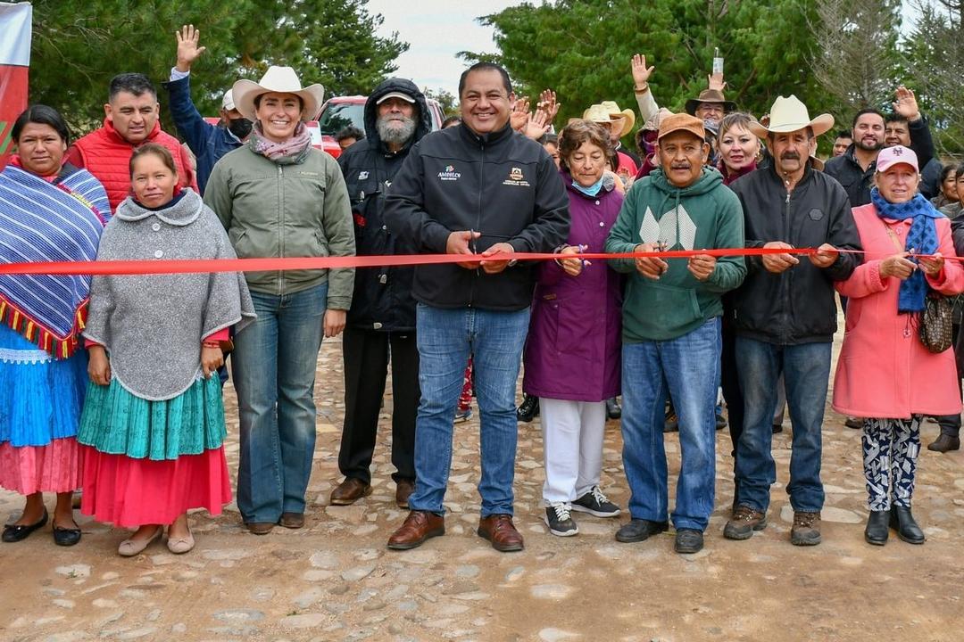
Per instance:
[[[75,437],[46,446],[0,444],[0,486],[20,495],[71,493],[80,488],[80,452]]]

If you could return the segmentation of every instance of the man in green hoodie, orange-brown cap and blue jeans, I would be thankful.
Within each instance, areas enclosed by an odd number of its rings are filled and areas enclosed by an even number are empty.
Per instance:
[[[626,194],[606,251],[742,247],[739,200],[718,171],[704,167],[710,146],[703,121],[688,114],[663,118],[657,144],[661,167]],[[662,434],[670,395],[683,456],[672,514],[675,549],[698,552],[713,509],[720,295],[740,284],[746,266],[740,256],[709,254],[610,263],[630,273],[623,303],[623,466],[631,520],[616,539],[641,542],[668,527]]]

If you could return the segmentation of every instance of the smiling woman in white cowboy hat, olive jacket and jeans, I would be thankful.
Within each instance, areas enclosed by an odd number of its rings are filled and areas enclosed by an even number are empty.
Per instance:
[[[204,202],[240,258],[350,256],[355,233],[338,165],[311,146],[305,121],[321,85],[302,88],[294,69],[272,66],[239,80],[234,104],[254,122],[244,147],[211,173]],[[241,424],[237,502],[255,534],[305,524],[314,452],[314,376],[322,335],[344,328],[353,270],[249,272],[257,321],[232,353]]]

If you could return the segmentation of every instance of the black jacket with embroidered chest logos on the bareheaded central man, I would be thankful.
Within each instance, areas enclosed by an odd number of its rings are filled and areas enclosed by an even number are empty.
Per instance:
[[[508,243],[519,252],[551,252],[569,234],[569,197],[551,157],[508,123],[477,135],[465,124],[415,145],[385,203],[389,231],[415,253],[443,254],[451,232],[474,230],[482,252]],[[528,307],[535,265],[498,274],[455,264],[415,267],[415,299],[439,308],[515,311]]]

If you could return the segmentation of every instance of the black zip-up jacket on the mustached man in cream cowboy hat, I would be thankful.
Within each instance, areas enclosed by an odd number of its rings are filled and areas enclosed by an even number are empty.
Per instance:
[[[861,249],[844,188],[809,164],[790,193],[773,167],[750,172],[730,189],[743,205],[747,247],[783,241],[794,247],[828,243],[838,249]],[[746,257],[746,278],[734,295],[737,335],[782,346],[833,339],[833,282],[849,277],[860,265],[860,255],[841,253],[823,269],[806,256],[797,258],[798,265],[774,274],[763,268],[761,257]]]

